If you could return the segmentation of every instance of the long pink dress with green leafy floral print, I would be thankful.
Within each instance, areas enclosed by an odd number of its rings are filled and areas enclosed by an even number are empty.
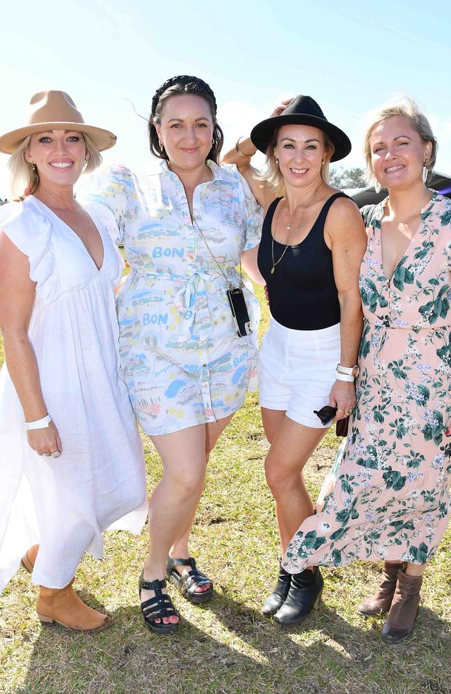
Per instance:
[[[337,481],[282,561],[290,573],[353,559],[424,564],[445,532],[451,482],[451,201],[434,192],[391,280],[386,200],[362,211],[364,331],[357,406]]]

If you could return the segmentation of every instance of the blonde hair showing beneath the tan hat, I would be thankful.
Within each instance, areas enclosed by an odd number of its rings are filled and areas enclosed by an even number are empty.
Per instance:
[[[81,133],[85,140],[86,150],[88,153],[87,164],[83,169],[83,174],[90,174],[102,163],[102,155],[92,142],[92,139],[86,133]],[[26,198],[35,192],[39,185],[39,173],[33,170],[30,162],[27,162],[25,153],[30,146],[32,135],[28,135],[22,144],[19,144],[16,151],[12,153],[8,160],[8,169],[10,170],[10,188],[11,199],[18,201]],[[24,192],[26,191],[26,193]]]

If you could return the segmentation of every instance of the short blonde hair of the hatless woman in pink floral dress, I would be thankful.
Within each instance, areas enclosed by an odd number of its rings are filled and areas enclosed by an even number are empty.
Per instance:
[[[373,112],[369,117],[368,126],[364,138],[366,180],[368,180],[368,183],[371,184],[376,183],[377,180],[373,171],[373,166],[371,164],[370,141],[373,128],[375,128],[375,126],[377,126],[378,124],[382,123],[382,121],[385,121],[387,118],[391,118],[392,116],[405,116],[406,118],[408,118],[409,121],[411,121],[414,130],[416,130],[418,135],[420,135],[420,138],[423,140],[423,142],[432,143],[431,156],[425,162],[425,166],[429,171],[427,177],[427,180],[429,180],[432,169],[434,169],[435,166],[437,150],[439,146],[437,144],[436,138],[434,137],[434,133],[432,132],[432,128],[429,121],[427,120],[427,117],[423,112],[420,111],[418,105],[416,104],[414,99],[410,98],[410,96],[402,96],[401,99],[398,98],[397,101],[382,106],[381,108],[377,109],[377,111]]]

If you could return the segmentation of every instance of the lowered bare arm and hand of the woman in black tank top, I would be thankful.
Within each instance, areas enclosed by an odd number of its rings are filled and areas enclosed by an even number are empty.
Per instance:
[[[332,248],[334,280],[340,303],[342,366],[354,366],[361,339],[363,314],[359,293],[359,271],[366,249],[366,233],[357,206],[346,198],[334,202],[325,224],[325,240]],[[336,380],[330,391],[330,404],[345,412],[355,406],[354,383]],[[346,416],[337,412],[337,419]]]

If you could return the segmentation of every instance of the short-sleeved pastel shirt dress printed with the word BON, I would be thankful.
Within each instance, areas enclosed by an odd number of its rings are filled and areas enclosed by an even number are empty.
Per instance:
[[[262,210],[235,166],[207,163],[212,180],[194,191],[194,223],[163,161],[103,169],[80,191],[108,205],[121,231],[130,263],[118,299],[121,369],[151,435],[226,417],[256,386],[258,302],[245,287],[253,333],[239,337],[226,278],[239,285],[236,268],[259,243]]]

